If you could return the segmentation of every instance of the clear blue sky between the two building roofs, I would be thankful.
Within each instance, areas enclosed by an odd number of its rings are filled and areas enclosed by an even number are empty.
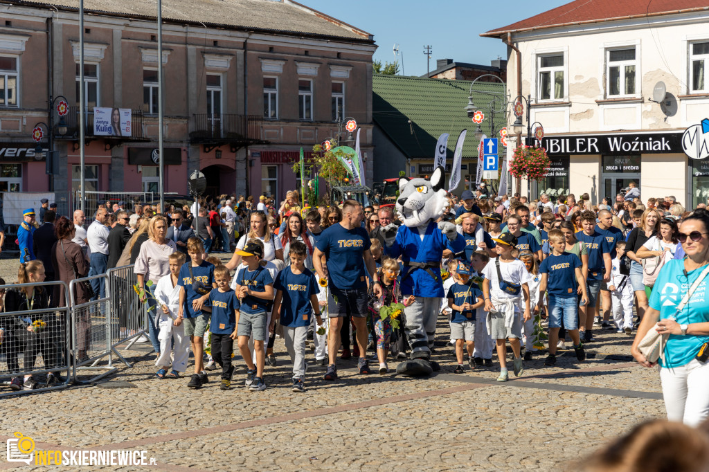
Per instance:
[[[430,69],[437,59],[489,65],[506,59],[506,46],[498,39],[481,38],[480,33],[535,16],[571,0],[298,0],[299,3],[350,23],[374,35],[379,49],[374,59],[393,61],[398,44],[399,63],[403,52],[406,75],[426,73],[424,45],[431,45]]]

